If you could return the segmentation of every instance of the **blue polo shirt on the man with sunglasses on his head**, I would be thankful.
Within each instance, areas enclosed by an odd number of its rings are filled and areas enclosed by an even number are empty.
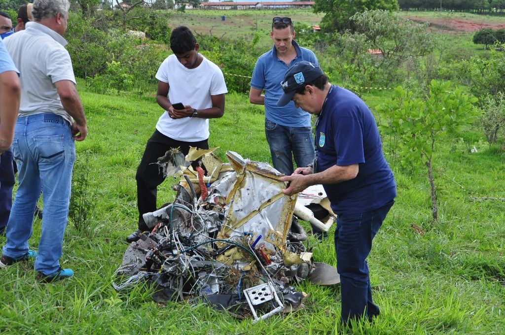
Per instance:
[[[290,66],[301,61],[308,61],[319,66],[316,55],[309,49],[299,46],[292,41],[296,49],[296,58]],[[256,62],[252,72],[251,87],[265,89],[265,118],[286,127],[310,127],[311,116],[301,108],[295,108],[294,102],[277,106],[277,100],[282,95],[281,81],[289,67],[277,57],[275,45],[265,52]]]

